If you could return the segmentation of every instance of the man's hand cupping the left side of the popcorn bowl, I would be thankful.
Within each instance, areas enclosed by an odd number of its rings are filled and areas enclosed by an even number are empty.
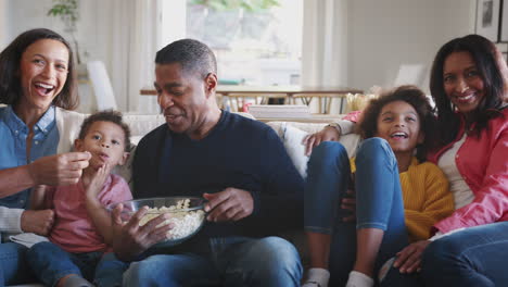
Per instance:
[[[113,250],[116,257],[123,261],[131,261],[152,245],[166,238],[167,232],[173,228],[170,224],[164,224],[169,219],[169,214],[161,214],[149,221],[145,225],[139,226],[139,222],[147,214],[148,208],[143,207],[136,212],[127,223],[122,221],[120,214],[124,209],[118,204],[112,212],[113,221]]]

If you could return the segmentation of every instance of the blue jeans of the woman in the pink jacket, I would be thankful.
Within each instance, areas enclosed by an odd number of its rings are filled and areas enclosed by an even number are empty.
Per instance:
[[[508,222],[467,228],[423,252],[427,286],[508,286]]]

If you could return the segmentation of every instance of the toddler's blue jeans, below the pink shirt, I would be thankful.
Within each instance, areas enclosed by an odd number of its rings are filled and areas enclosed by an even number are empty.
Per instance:
[[[69,253],[51,242],[36,244],[26,253],[31,270],[46,286],[55,286],[61,278],[69,274],[77,274],[93,282],[96,266],[102,254]]]

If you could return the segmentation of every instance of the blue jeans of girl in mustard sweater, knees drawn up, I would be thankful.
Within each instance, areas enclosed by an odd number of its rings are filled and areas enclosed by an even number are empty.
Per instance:
[[[332,235],[330,286],[344,286],[356,259],[356,229],[384,230],[376,272],[408,245],[398,167],[390,145],[381,138],[361,142],[356,155],[356,226],[342,221],[340,209],[350,184],[351,166],[344,147],[323,141],[313,150],[305,186],[305,230]],[[398,273],[398,272],[397,272]],[[396,279],[390,286],[398,285]]]

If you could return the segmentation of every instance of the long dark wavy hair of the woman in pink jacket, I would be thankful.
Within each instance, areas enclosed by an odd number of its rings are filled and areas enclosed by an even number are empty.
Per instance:
[[[485,97],[474,111],[475,125],[472,135],[479,136],[487,127],[487,122],[497,116],[504,107],[507,96],[506,65],[501,53],[488,39],[480,35],[468,35],[455,38],[445,43],[437,51],[431,68],[430,90],[435,101],[440,146],[452,142],[459,132],[460,118],[456,114],[456,107],[452,103],[444,89],[443,70],[448,55],[455,52],[469,52],[477,65],[484,83]]]

